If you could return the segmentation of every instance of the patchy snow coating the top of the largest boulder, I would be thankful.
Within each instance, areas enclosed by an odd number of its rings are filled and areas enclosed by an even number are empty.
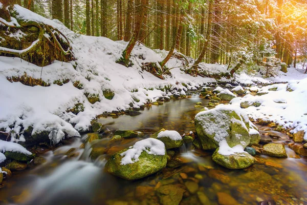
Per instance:
[[[225,111],[234,111],[240,119],[230,118]],[[207,114],[204,116],[204,114]],[[214,116],[215,120],[212,121],[208,114]],[[214,140],[217,142],[221,142],[225,140],[227,136],[229,136],[229,126],[231,122],[238,123],[242,125],[243,128],[248,130],[246,127],[245,122],[249,121],[247,114],[244,112],[243,109],[237,108],[236,106],[232,105],[218,105],[214,109],[202,111],[196,114],[195,119],[200,121],[204,131],[210,135],[214,134]]]

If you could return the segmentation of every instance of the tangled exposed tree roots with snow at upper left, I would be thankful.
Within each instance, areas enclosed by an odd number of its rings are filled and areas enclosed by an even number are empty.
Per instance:
[[[37,66],[74,59],[69,40],[58,29],[38,22],[18,24],[13,26],[0,20],[1,56],[20,57]]]

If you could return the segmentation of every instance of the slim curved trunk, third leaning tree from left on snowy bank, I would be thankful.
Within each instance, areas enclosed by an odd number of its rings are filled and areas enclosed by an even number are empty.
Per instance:
[[[209,45],[209,40],[210,40],[211,20],[212,20],[212,5],[214,4],[214,0],[209,0],[208,4],[209,5],[208,5],[207,31],[206,31],[205,40],[204,40],[204,43],[203,43],[203,48],[202,48],[200,55],[194,61],[194,64],[192,66],[192,69],[194,70],[195,74],[197,74],[197,72],[198,72],[198,65],[204,59],[205,53],[206,53],[208,45]]]

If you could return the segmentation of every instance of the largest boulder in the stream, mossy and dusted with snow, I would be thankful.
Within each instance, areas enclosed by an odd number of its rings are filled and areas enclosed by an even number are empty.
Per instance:
[[[226,140],[229,147],[250,144],[249,119],[246,113],[231,105],[219,105],[195,116],[196,133],[204,150],[219,147]]]

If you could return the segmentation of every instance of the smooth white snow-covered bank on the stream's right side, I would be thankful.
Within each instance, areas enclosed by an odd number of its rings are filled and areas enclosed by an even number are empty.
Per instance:
[[[274,91],[276,90],[276,91]],[[244,109],[254,119],[267,118],[286,128],[293,128],[292,133],[304,131],[307,141],[307,78],[291,80],[288,84],[271,85],[261,88],[261,96],[250,94],[232,99],[230,103],[240,107],[257,102],[259,107],[249,106]],[[265,94],[267,93],[267,94]]]

